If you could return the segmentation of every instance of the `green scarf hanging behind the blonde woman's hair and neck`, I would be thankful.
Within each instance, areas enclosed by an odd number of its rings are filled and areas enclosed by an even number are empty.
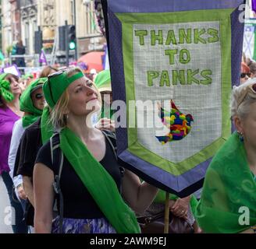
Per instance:
[[[49,116],[49,107],[44,107],[43,114],[41,115],[41,137],[43,144],[48,142],[53,134],[53,126],[49,123]]]

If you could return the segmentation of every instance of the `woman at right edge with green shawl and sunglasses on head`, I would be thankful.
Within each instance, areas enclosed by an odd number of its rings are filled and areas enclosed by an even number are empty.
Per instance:
[[[196,218],[204,233],[254,233],[256,225],[256,79],[234,87],[236,132],[208,167]]]

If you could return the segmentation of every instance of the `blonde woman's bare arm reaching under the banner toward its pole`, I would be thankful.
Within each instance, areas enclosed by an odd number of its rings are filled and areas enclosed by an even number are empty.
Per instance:
[[[123,198],[130,208],[137,213],[144,213],[154,201],[158,188],[148,184],[140,183],[140,178],[130,170],[126,170],[123,176]]]

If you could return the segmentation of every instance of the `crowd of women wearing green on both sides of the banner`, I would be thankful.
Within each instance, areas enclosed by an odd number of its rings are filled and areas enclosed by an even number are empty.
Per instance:
[[[170,214],[192,233],[255,232],[255,75],[256,62],[244,57],[231,100],[236,132],[208,167],[199,202],[170,195]],[[113,111],[104,108],[112,103],[109,70],[88,79],[80,68],[47,66],[31,78],[0,75],[0,174],[13,233],[143,232],[140,221],[165,208],[165,195],[116,156]],[[241,206],[249,225],[239,223]]]

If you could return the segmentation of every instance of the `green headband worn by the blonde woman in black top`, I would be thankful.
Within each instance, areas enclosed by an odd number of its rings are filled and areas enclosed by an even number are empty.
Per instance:
[[[48,81],[45,82],[43,86],[44,98],[49,107],[55,107],[55,104],[58,102],[59,98],[62,96],[62,93],[65,92],[67,87],[76,79],[83,77],[83,72],[76,72],[76,74],[68,77],[67,71],[59,71],[49,75]]]

